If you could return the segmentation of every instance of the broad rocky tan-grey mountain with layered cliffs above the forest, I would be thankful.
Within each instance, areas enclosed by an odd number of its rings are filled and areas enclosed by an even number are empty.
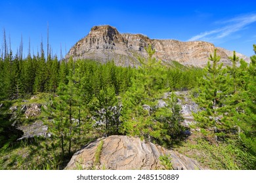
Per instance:
[[[115,27],[101,25],[91,28],[89,34],[75,43],[66,58],[94,59],[101,62],[114,60],[116,65],[139,65],[138,56],[145,57],[145,46],[149,44],[156,50],[154,56],[165,64],[178,61],[182,65],[203,67],[207,64],[209,55],[215,50],[214,44],[204,41],[181,42],[171,39],[150,39],[145,35],[119,33]],[[229,56],[233,52],[217,48],[224,65],[229,64]],[[237,56],[249,62],[249,58],[237,53]]]

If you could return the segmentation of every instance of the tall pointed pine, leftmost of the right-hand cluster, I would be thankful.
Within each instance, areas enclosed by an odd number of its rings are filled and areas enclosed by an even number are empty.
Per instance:
[[[227,83],[224,76],[226,70],[222,68],[223,63],[219,64],[220,59],[221,57],[217,56],[216,50],[213,56],[210,55],[204,69],[205,73],[200,80],[198,96],[195,98],[202,111],[194,114],[194,118],[203,127],[221,128],[222,100],[226,97]],[[212,65],[210,61],[213,62]]]

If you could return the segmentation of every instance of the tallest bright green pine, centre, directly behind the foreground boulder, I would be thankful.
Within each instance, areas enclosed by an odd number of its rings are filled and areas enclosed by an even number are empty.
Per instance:
[[[166,76],[160,61],[153,58],[155,50],[151,46],[145,50],[148,58],[139,58],[141,67],[123,96],[123,133],[152,141],[160,137],[161,124],[154,117]]]

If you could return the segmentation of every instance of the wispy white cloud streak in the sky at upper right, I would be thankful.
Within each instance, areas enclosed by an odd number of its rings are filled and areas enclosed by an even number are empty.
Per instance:
[[[256,22],[256,14],[238,16],[230,20],[218,22],[217,24],[222,25],[221,27],[195,35],[188,39],[188,41],[202,40],[214,42],[223,39],[224,37],[228,37],[228,35],[231,35],[232,33],[246,29],[247,25],[253,24],[254,22]]]

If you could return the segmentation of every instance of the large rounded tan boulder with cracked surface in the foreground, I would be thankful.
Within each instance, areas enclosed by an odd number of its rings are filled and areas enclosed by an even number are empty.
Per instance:
[[[96,149],[103,141],[99,162],[95,164]],[[203,169],[197,161],[151,142],[127,136],[110,136],[87,144],[74,154],[66,169],[164,169],[159,157],[171,156],[173,169]]]

